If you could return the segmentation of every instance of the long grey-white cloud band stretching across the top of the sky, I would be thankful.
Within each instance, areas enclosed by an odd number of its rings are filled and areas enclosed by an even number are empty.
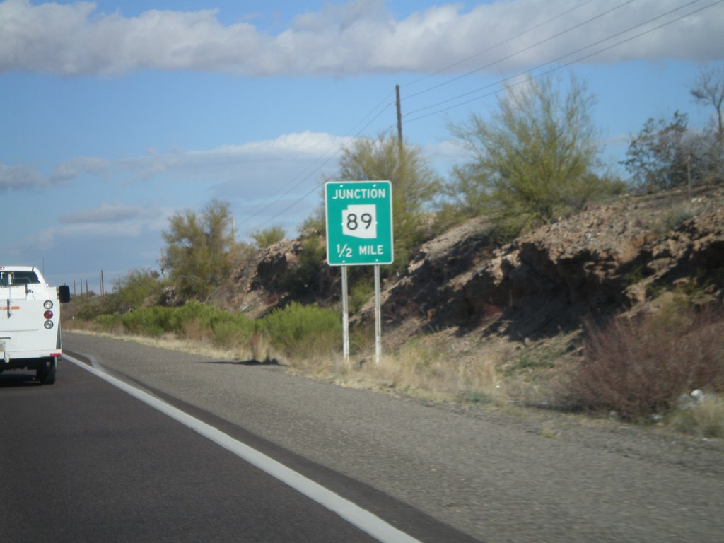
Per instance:
[[[214,10],[150,10],[122,17],[96,12],[89,2],[34,6],[29,0],[5,0],[0,4],[0,71],[344,75],[430,72],[474,56],[458,70],[487,67],[499,73],[555,59],[570,62],[597,51],[586,62],[722,58],[724,5],[699,12],[698,4],[683,5],[676,0],[640,0],[614,9],[603,2],[497,0],[468,12],[462,4],[445,4],[395,20],[382,0],[356,0],[325,4],[271,35],[248,22],[222,25]],[[690,15],[653,30],[685,14]],[[622,33],[627,29],[631,30]],[[626,41],[639,33],[645,34]],[[616,46],[619,42],[623,43]]]

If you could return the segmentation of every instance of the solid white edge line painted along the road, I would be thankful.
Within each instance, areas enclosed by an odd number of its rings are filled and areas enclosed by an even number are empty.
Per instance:
[[[143,403],[150,405],[152,408],[161,411],[161,413],[179,421],[181,424],[185,424],[185,426],[188,426],[190,429],[198,432],[203,437],[211,439],[211,441],[217,445],[221,445],[225,449],[230,450],[238,457],[246,460],[248,463],[251,463],[253,466],[269,473],[269,475],[279,479],[279,481],[282,481],[298,492],[301,492],[320,505],[324,505],[325,508],[334,511],[334,513],[337,513],[337,515],[344,518],[345,521],[348,521],[353,526],[365,531],[378,541],[383,543],[421,543],[418,539],[415,539],[414,537],[405,534],[405,532],[396,529],[394,526],[386,523],[378,516],[370,513],[368,510],[365,510],[358,505],[355,505],[353,502],[345,500],[345,498],[341,497],[339,494],[335,494],[331,490],[322,487],[321,484],[317,484],[311,479],[307,479],[301,473],[297,473],[296,471],[287,468],[287,466],[277,462],[277,460],[273,460],[258,450],[237,441],[230,435],[220,432],[214,428],[214,426],[206,424],[180,409],[174,408],[172,405],[169,405],[168,403],[159,400],[159,398],[148,394],[148,392],[132,387],[130,384],[122,382],[120,379],[106,374],[104,371],[96,367],[88,366],[88,364],[85,364],[67,354],[63,355],[63,360],[70,361],[76,366],[80,366],[85,369],[85,371],[89,371],[91,374],[104,379],[104,381],[109,382],[114,387],[127,392],[127,394],[130,394]]]

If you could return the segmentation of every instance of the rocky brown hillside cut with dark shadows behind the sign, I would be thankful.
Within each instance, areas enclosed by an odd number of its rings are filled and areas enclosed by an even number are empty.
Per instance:
[[[422,245],[405,274],[384,281],[386,333],[404,340],[455,329],[536,340],[677,293],[723,298],[723,188],[623,196],[502,248],[484,232],[482,219],[462,224]],[[263,251],[237,270],[227,303],[253,316],[287,303],[279,285],[300,251],[299,240]],[[336,303],[338,277],[323,266],[308,285],[310,297]],[[370,302],[353,321],[371,315]]]

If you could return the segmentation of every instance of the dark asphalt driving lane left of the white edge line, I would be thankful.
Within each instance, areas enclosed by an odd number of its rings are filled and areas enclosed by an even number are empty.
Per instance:
[[[83,369],[0,376],[3,542],[370,542]]]

